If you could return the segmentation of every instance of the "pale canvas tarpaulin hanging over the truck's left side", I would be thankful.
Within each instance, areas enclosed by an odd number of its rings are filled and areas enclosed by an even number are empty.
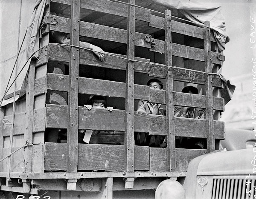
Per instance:
[[[6,88],[10,87],[28,58],[38,49],[38,37],[36,35],[43,16],[45,2],[46,0],[3,0],[0,3],[0,13],[2,15],[0,20],[0,99],[3,98]],[[17,53],[25,35],[26,37],[17,59],[16,71],[14,70],[12,73]],[[26,64],[16,80],[16,91],[20,91],[23,85],[29,63]],[[7,86],[8,81],[9,85]],[[13,92],[14,85],[6,95]],[[18,99],[18,97],[19,94],[16,94],[15,99]],[[4,99],[1,106],[11,102],[13,102],[13,97]]]

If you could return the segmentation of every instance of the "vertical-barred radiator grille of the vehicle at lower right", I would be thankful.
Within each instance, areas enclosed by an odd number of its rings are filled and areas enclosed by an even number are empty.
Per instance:
[[[254,189],[255,179],[213,179],[212,199],[253,199]]]

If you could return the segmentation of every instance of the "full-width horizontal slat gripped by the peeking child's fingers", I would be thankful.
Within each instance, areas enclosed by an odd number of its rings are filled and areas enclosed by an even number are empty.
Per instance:
[[[96,118],[96,119],[93,119]],[[106,119],[105,119],[106,118]],[[150,122],[149,122],[150,118]],[[99,120],[99,121],[98,121]],[[134,111],[134,131],[166,135],[165,116]],[[205,138],[205,120],[175,117],[175,135]],[[47,128],[67,128],[67,106],[47,104]],[[224,122],[214,121],[215,139],[224,139]],[[79,107],[79,129],[124,131],[124,111]],[[151,130],[150,130],[151,129]]]

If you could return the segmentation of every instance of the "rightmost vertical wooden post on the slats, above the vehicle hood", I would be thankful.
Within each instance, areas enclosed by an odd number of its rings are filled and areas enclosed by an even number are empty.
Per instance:
[[[205,51],[205,72],[212,73],[211,63],[211,29],[209,28],[210,22],[204,23],[204,51]],[[205,95],[206,99],[206,126],[205,131],[207,134],[207,152],[215,150],[214,139],[214,124],[213,124],[213,99],[212,99],[212,75],[208,74],[205,82]]]

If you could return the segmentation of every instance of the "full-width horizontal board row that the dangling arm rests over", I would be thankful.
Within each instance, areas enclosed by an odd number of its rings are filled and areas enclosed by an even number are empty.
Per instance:
[[[39,57],[42,57],[41,60],[45,58],[44,60],[45,63],[48,62],[48,60],[46,60],[46,58],[48,57],[49,57],[49,60],[52,60],[52,61],[64,61],[68,63],[69,51],[70,51],[70,47],[68,46],[61,46],[58,44],[49,44],[48,51],[43,51],[42,54],[39,54]],[[47,56],[46,56],[46,53],[47,53]],[[125,55],[118,55],[118,54],[113,54],[113,55],[119,56],[119,57],[125,57]],[[96,67],[125,70],[126,60],[119,57],[113,57],[111,55],[106,54],[105,55],[106,60],[104,62],[101,62],[91,51],[80,50],[79,63],[83,65],[92,65]],[[134,67],[135,72],[146,73],[146,74],[149,74],[151,77],[160,77],[160,78],[166,77],[165,65],[151,63],[150,60],[139,58],[139,57],[136,57],[135,60],[145,62],[145,63],[135,62],[135,67]],[[191,71],[185,68],[172,68],[172,71],[173,71],[173,77],[175,81],[190,82],[190,83],[205,85],[206,74],[203,72]],[[218,75],[213,76],[212,85],[222,88],[221,79]]]

